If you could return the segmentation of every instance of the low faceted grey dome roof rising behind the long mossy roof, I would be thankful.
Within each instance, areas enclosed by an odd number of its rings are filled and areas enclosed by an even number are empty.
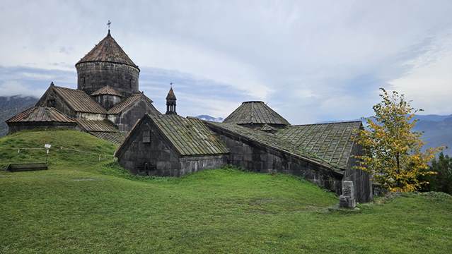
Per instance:
[[[264,102],[243,102],[234,110],[224,123],[250,124],[267,123],[277,125],[290,125],[290,123]]]

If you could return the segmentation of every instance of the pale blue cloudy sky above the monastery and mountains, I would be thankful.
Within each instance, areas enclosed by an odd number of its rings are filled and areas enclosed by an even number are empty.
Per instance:
[[[378,87],[452,114],[452,1],[4,1],[0,96],[76,87],[107,34],[164,109],[227,116],[262,100],[291,123],[369,116]]]

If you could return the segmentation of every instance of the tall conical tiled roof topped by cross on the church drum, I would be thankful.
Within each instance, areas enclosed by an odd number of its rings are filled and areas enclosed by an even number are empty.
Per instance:
[[[103,38],[93,49],[91,49],[86,56],[83,56],[79,62],[76,63],[86,63],[92,61],[104,61],[111,63],[122,63],[129,66],[138,68],[138,66],[127,56],[127,54],[122,50],[119,44],[110,35],[110,30],[108,30],[108,35]]]

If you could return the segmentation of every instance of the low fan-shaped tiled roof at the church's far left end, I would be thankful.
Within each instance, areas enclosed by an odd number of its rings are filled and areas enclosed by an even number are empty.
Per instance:
[[[66,116],[62,112],[53,107],[30,107],[22,113],[16,114],[11,119],[6,120],[7,123],[18,122],[59,122],[59,123],[75,123],[74,119]]]

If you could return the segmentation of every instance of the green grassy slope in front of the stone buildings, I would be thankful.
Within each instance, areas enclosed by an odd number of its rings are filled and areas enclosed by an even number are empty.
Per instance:
[[[0,148],[43,143],[112,154],[75,131],[24,132]],[[35,156],[32,156],[35,155]],[[42,151],[0,150],[0,163]],[[236,169],[180,179],[129,176],[107,159],[51,150],[50,170],[0,172],[0,253],[450,253],[452,198],[407,195],[328,212],[337,198],[282,174]]]

